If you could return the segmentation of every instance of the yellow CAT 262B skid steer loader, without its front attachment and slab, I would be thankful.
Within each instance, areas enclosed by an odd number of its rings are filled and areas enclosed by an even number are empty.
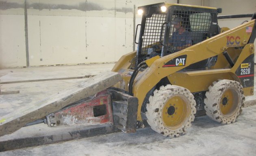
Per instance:
[[[183,134],[195,115],[233,123],[244,96],[254,94],[255,14],[228,30],[219,28],[217,8],[160,3],[139,11],[138,50],[113,68],[123,77],[115,87],[138,98],[137,121],[169,137]]]

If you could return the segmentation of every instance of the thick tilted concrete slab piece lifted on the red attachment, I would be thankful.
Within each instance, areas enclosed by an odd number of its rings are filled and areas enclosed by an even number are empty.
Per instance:
[[[21,108],[16,112],[4,115],[0,117],[0,136],[11,134],[29,122],[41,119],[69,104],[107,89],[121,79],[121,76],[117,72],[105,72],[88,78],[79,85],[60,91],[30,106]]]

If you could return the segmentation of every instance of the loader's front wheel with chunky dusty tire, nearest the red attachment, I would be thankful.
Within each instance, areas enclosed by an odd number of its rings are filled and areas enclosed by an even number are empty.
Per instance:
[[[196,113],[194,96],[188,89],[167,85],[154,91],[147,104],[151,128],[167,137],[178,137],[191,127]]]

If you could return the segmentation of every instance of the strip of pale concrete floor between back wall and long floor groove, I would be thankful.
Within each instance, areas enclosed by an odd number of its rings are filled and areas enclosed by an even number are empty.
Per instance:
[[[71,66],[48,66],[13,68],[0,70],[0,84],[15,81],[42,80],[54,78],[75,78],[97,75],[105,71],[111,71],[114,63],[87,64]]]

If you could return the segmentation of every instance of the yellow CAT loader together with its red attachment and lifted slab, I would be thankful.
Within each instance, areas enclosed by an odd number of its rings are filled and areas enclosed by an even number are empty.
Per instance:
[[[128,133],[149,124],[169,137],[184,134],[195,116],[234,123],[254,94],[256,14],[229,30],[219,28],[217,8],[158,3],[139,11],[137,51],[112,72],[1,117],[0,136],[39,122],[112,124]]]

